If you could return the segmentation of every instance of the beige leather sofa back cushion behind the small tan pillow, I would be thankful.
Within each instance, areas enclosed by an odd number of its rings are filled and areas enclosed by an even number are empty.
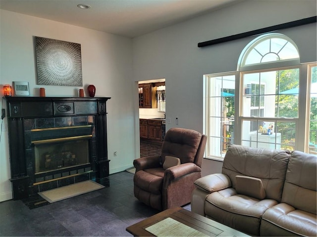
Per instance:
[[[222,173],[236,188],[236,175],[259,178],[265,198],[281,201],[289,152],[230,145],[223,160]]]

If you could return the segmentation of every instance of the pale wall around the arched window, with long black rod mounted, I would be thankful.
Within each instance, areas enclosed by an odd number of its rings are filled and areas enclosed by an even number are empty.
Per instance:
[[[170,127],[203,131],[203,75],[237,69],[243,48],[255,37],[204,48],[197,43],[316,16],[316,0],[246,0],[133,39],[133,80],[166,79]],[[316,61],[316,24],[278,31],[297,44],[301,62]],[[175,118],[179,124],[175,124]],[[221,172],[205,159],[203,175]]]

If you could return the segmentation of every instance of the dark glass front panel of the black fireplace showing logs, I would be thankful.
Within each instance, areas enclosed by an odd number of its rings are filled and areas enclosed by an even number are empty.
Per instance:
[[[34,146],[35,173],[89,163],[88,139]]]

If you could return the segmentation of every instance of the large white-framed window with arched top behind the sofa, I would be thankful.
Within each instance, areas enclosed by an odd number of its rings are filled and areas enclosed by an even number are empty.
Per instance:
[[[231,143],[317,154],[317,66],[300,64],[291,39],[258,37],[237,72],[205,75],[204,86],[207,157],[222,159]]]

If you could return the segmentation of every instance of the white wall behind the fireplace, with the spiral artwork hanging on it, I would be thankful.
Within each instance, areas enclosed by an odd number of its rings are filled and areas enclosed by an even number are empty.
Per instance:
[[[134,144],[133,100],[137,100],[131,89],[134,82],[128,79],[132,75],[131,39],[5,10],[0,10],[0,33],[0,84],[28,81],[31,96],[39,96],[39,87],[46,88],[47,96],[78,96],[79,89],[36,84],[33,36],[81,44],[84,87],[94,84],[96,96],[111,97],[106,103],[110,173],[131,167],[139,153]],[[6,109],[5,101],[2,104]],[[3,122],[6,124],[6,118]],[[114,151],[118,152],[116,157]],[[12,198],[9,170],[7,131],[3,131],[0,201]]]

